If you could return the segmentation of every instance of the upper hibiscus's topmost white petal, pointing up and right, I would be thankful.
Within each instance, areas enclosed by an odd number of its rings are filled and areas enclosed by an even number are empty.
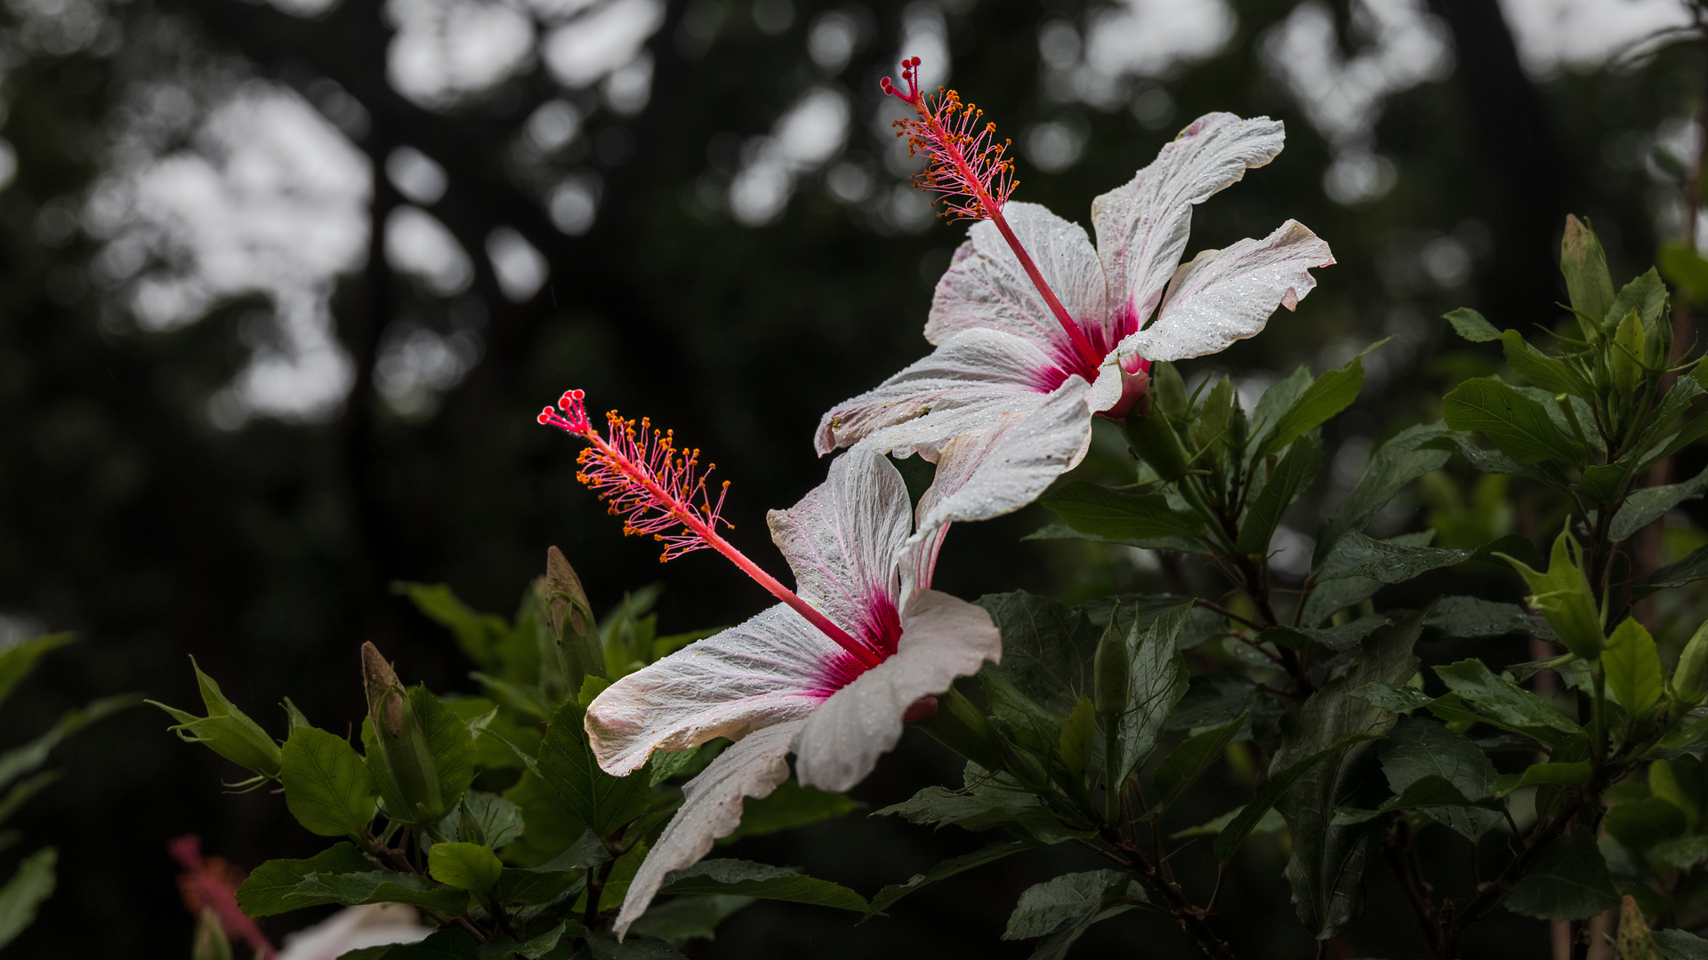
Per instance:
[[[1120,188],[1091,202],[1097,253],[1108,273],[1110,316],[1151,314],[1185,253],[1192,207],[1281,152],[1279,121],[1211,113],[1192,121]],[[1107,340],[1105,340],[1107,342]]]

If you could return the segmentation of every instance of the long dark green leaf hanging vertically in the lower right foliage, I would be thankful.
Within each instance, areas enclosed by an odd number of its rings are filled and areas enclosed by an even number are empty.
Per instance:
[[[1387,793],[1375,769],[1373,748],[1363,741],[1385,735],[1399,721],[1397,714],[1351,692],[1370,683],[1395,687],[1418,671],[1413,647],[1426,615],[1399,615],[1394,625],[1372,634],[1341,676],[1281,717],[1281,745],[1269,762],[1271,782],[1259,798],[1272,796],[1286,817],[1293,840],[1286,866],[1293,907],[1319,938],[1332,938],[1358,916],[1370,852],[1372,827],[1336,827],[1334,808],[1366,806],[1366,794],[1378,803]],[[1293,781],[1291,789],[1274,789],[1283,777]],[[1254,806],[1261,805],[1254,801],[1245,815]]]

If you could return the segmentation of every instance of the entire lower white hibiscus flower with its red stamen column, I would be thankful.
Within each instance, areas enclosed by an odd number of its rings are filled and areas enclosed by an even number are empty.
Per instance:
[[[791,752],[803,784],[852,787],[895,746],[904,719],[929,716],[933,695],[1001,658],[1001,637],[982,608],[931,589],[945,530],[909,543],[907,485],[869,446],[837,458],[825,483],[799,504],[770,512],[772,540],[796,576],[794,593],[717,535],[709,521],[716,511],[678,495],[700,489],[697,482],[661,482],[646,458],[598,437],[581,403],[579,391],[570,391],[560,401],[564,415],[547,412],[541,420],[594,444],[584,465],[625,478],[630,499],[613,492],[613,504],[642,511],[642,523],[671,518],[738,559],[743,571],[758,572],[755,579],[784,601],[623,676],[588,709],[594,757],[613,776],[639,770],[656,750],[736,740],[683,787],[681,808],[629,887],[617,917],[622,934],[666,873],[693,864],[736,828],[743,798],[767,796],[789,777]],[[678,454],[673,463],[683,461]],[[946,475],[921,509],[951,489]],[[639,507],[642,494],[646,507]],[[630,526],[640,528],[634,519]]]

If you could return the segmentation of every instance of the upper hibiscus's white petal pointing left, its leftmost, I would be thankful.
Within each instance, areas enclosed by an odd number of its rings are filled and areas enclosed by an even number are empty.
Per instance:
[[[818,422],[815,444],[825,454],[869,437],[880,453],[936,460],[955,434],[1042,403],[1059,376],[1056,360],[1037,343],[968,330],[876,389],[835,405]]]

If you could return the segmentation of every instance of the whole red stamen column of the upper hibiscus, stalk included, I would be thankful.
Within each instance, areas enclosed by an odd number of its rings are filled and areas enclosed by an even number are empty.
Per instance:
[[[960,94],[938,87],[936,97],[926,97],[919,91],[919,58],[902,61],[902,80],[907,84],[904,94],[888,77],[878,82],[883,92],[914,108],[919,120],[897,120],[907,135],[910,154],[926,154],[926,169],[915,178],[921,190],[938,193],[943,200],[945,217],[963,217],[970,220],[991,220],[1008,241],[1009,249],[1020,260],[1021,270],[1038,289],[1044,304],[1056,314],[1056,323],[1068,333],[1074,350],[1085,364],[1086,379],[1097,379],[1097,369],[1103,364],[1103,354],[1091,345],[1085,330],[1073,319],[1061,297],[1044,280],[1038,265],[1032,261],[1027,248],[1020,246],[1020,237],[1003,217],[1003,205],[1008,195],[1020,186],[1015,179],[1015,161],[1004,154],[1013,140],[996,142],[996,125],[977,123],[984,111],[974,104],[963,104]],[[965,196],[965,200],[956,200]]]

